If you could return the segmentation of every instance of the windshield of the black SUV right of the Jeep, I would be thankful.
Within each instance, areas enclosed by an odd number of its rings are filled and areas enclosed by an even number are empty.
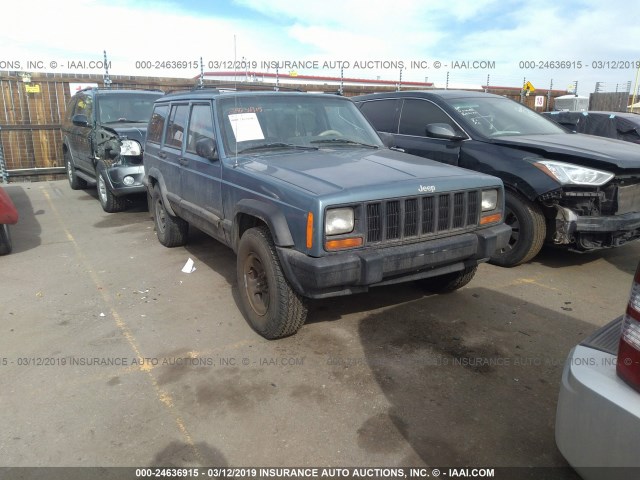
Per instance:
[[[460,98],[447,102],[459,120],[485,137],[567,133],[557,124],[508,98]]]

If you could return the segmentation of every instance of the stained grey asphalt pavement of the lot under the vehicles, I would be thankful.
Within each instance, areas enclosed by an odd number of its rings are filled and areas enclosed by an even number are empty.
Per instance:
[[[640,256],[545,249],[448,295],[314,301],[267,341],[239,312],[233,252],[195,229],[163,247],[144,198],[107,214],[66,181],[6,189],[4,467],[566,467],[564,360],[623,312]]]

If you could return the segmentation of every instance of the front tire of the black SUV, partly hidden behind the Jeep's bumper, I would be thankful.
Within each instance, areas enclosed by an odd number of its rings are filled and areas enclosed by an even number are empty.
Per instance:
[[[491,257],[490,263],[515,267],[540,252],[547,235],[547,225],[538,205],[517,193],[507,192],[504,223],[512,228],[509,244]]]

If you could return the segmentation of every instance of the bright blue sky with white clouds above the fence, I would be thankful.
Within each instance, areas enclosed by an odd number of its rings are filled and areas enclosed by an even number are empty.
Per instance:
[[[487,75],[492,85],[519,86],[526,78],[538,88],[553,80],[554,88],[564,89],[577,80],[579,92],[588,94],[597,81],[610,90],[627,82],[633,87],[631,62],[640,60],[637,21],[618,0],[32,0],[28,15],[16,4],[3,10],[11,8],[16,15],[7,17],[21,21],[0,30],[0,67],[12,60],[43,60],[48,67],[53,60],[55,71],[66,71],[67,60],[101,59],[105,49],[113,74],[175,77],[198,71],[144,70],[136,61],[402,61],[403,79],[428,78],[437,86],[444,86],[448,71],[450,86],[479,86]],[[430,68],[409,68],[411,60]],[[471,64],[453,69],[456,60]],[[474,68],[474,61],[495,66]],[[520,61],[535,68],[522,68]],[[548,61],[557,68],[544,68]],[[297,73],[339,75],[321,68]],[[348,68],[344,74],[397,80],[400,71]]]

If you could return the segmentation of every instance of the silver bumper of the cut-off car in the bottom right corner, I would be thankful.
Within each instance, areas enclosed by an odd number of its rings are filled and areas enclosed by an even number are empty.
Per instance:
[[[605,329],[619,331],[620,321]],[[555,434],[560,452],[584,480],[636,478],[611,469],[640,468],[640,394],[617,376],[614,354],[586,345],[569,353]]]

